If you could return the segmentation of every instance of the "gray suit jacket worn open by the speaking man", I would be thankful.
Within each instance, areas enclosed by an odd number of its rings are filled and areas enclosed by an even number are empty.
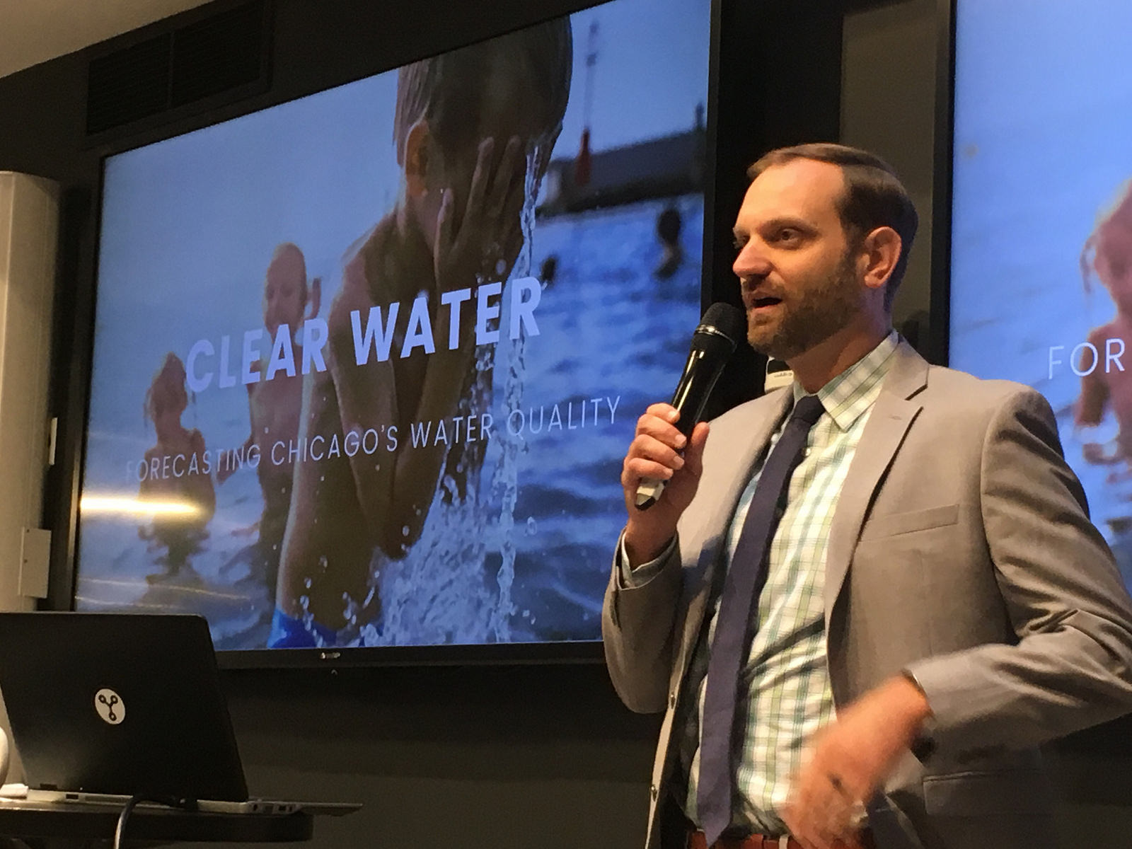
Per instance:
[[[910,670],[935,752],[907,753],[869,804],[878,849],[1052,846],[1039,744],[1132,710],[1132,602],[1054,417],[1035,391],[928,366],[907,343],[861,436],[830,530],[825,636],[834,702]],[[666,711],[649,849],[675,757],[672,719],[728,523],[790,401],[779,391],[712,422],[678,552],[648,584],[606,593],[623,701]]]

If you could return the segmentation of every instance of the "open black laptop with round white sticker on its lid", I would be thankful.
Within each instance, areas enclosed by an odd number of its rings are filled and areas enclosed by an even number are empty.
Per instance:
[[[345,814],[249,799],[208,624],[170,614],[0,612],[0,692],[27,798]]]

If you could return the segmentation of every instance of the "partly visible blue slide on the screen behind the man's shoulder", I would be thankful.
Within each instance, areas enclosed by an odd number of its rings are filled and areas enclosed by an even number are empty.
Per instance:
[[[951,365],[1045,394],[1132,585],[1132,5],[958,6]]]

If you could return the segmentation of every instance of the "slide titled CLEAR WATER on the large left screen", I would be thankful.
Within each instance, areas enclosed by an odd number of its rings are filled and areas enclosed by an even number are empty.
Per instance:
[[[76,608],[600,640],[700,316],[710,19],[615,0],[108,157]]]

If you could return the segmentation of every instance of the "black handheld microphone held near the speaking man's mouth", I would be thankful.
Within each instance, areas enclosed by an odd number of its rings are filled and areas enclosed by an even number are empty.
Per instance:
[[[692,334],[692,351],[688,352],[684,374],[672,393],[672,406],[680,413],[676,429],[685,437],[692,438],[692,430],[703,415],[712,387],[746,332],[747,319],[743,310],[730,303],[711,305],[700,319],[700,326]],[[663,491],[664,481],[645,478],[637,486],[634,504],[637,509],[649,509]]]

